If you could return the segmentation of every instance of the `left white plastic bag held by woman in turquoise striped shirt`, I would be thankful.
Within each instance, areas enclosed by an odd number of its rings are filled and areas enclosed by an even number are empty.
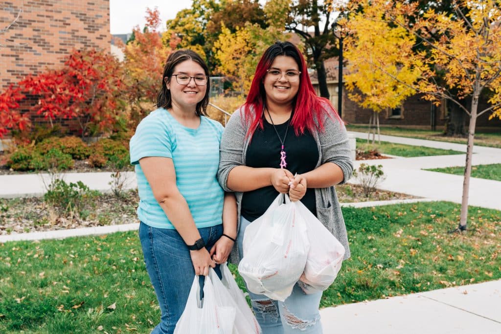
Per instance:
[[[203,300],[200,301],[200,284],[195,276],[174,334],[233,334],[235,311],[235,307],[216,301],[209,276],[205,276]]]

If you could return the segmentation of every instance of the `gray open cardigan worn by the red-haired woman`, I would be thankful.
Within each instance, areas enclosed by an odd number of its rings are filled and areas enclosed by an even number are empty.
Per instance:
[[[343,171],[344,180],[342,183],[344,183],[350,179],[353,172],[353,163],[350,159],[346,128],[344,124],[340,124],[335,120],[334,116],[328,115],[326,115],[324,120],[324,128],[325,130],[323,132],[315,132],[313,134],[319,151],[317,167],[326,162],[335,163]],[[231,169],[236,166],[245,165],[245,153],[249,144],[249,138],[245,138],[247,129],[248,124],[244,121],[243,109],[240,108],[229,118],[221,138],[217,179],[225,191],[231,191],[227,185],[228,175]],[[237,232],[240,227],[242,195],[242,192],[235,192],[238,205]],[[343,244],[346,249],[345,259],[347,259],[350,257],[350,248],[348,246],[346,226],[336,190],[334,187],[317,188],[315,189],[315,198],[318,219]],[[236,242],[229,255],[229,261],[235,264],[240,261]]]

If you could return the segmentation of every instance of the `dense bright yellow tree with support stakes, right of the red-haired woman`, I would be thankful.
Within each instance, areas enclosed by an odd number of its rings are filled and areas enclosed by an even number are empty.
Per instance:
[[[343,27],[341,33],[348,32],[344,39],[348,96],[361,107],[373,110],[369,121],[369,137],[372,128],[373,143],[374,125],[379,134],[379,113],[401,106],[414,95],[410,85],[420,75],[419,69],[410,66],[406,57],[413,52],[415,36],[402,27],[389,27],[383,16],[382,8],[372,6],[339,21]]]

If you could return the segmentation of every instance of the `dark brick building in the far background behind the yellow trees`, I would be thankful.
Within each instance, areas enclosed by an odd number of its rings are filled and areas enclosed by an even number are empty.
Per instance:
[[[338,63],[337,59],[329,59],[325,62],[330,100],[335,108],[338,107]],[[313,73],[311,78],[313,86],[318,94],[319,89],[316,73]],[[342,105],[343,110],[341,114],[346,122],[350,124],[369,124],[369,119],[373,111],[362,108],[357,103],[350,100],[344,87]],[[481,100],[478,111],[486,107],[487,103]],[[435,107],[429,101],[423,100],[419,95],[414,95],[408,98],[401,107],[382,111],[379,114],[379,122],[383,126],[388,125],[423,129],[435,127],[436,129],[440,129],[447,121],[446,108],[447,102],[442,103],[439,107]],[[490,112],[487,112],[477,119],[476,129],[501,130],[501,121],[499,119],[492,119],[489,121],[489,115]]]

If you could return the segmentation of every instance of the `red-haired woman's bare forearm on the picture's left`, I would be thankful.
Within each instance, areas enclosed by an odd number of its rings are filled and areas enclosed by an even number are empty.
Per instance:
[[[253,168],[236,166],[228,174],[227,185],[233,191],[252,191],[272,185],[276,168]]]

